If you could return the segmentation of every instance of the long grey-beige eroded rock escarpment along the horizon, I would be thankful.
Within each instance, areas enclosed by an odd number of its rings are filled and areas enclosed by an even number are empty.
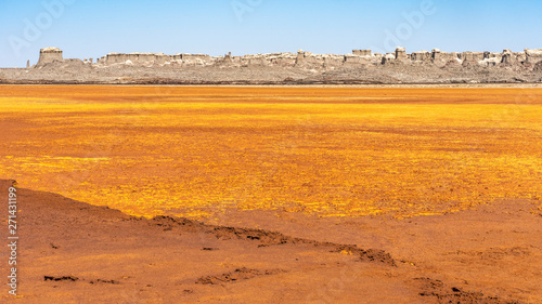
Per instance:
[[[379,54],[109,53],[94,61],[64,60],[41,49],[36,65],[0,69],[0,83],[87,84],[447,84],[542,83],[542,49],[524,52],[449,53],[434,49]]]

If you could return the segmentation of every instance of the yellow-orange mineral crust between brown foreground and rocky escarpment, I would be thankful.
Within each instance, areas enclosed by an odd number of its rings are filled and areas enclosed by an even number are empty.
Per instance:
[[[542,198],[542,89],[0,85],[0,179],[133,215]]]

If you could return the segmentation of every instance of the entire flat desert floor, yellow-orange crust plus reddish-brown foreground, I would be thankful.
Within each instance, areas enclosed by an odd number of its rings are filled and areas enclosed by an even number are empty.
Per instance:
[[[537,87],[0,85],[0,299],[542,303],[541,117]]]

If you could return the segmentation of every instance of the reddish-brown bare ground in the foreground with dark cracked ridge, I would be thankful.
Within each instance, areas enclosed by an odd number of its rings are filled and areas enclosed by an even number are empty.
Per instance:
[[[2,303],[542,303],[533,201],[409,220],[230,210],[217,226],[17,187],[18,296]]]

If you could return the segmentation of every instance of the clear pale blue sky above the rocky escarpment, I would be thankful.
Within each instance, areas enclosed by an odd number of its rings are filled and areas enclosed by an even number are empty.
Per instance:
[[[49,3],[49,4],[48,4]],[[0,0],[0,67],[109,52],[522,51],[542,48],[540,0]]]

